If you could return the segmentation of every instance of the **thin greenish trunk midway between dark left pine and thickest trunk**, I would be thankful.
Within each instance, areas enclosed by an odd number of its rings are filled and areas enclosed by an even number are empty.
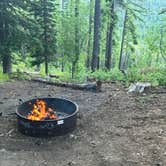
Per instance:
[[[76,65],[79,60],[79,55],[80,55],[78,16],[79,16],[79,0],[75,0],[75,18],[76,18],[76,22],[75,22],[75,58],[74,58],[74,61],[72,62],[72,78],[74,78],[74,74],[76,71]]]

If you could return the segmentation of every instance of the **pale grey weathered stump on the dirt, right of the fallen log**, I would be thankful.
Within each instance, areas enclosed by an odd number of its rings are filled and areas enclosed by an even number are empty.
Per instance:
[[[143,82],[133,83],[128,88],[128,93],[131,93],[131,92],[142,93],[142,92],[144,92],[145,89],[147,89],[149,87],[151,87],[150,83],[143,83]]]

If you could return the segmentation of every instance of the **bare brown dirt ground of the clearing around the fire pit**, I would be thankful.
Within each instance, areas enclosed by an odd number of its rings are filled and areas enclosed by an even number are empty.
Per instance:
[[[8,115],[18,99],[49,94],[79,105],[76,130],[51,138],[19,133]],[[115,83],[94,93],[13,81],[0,83],[0,112],[0,166],[166,166],[164,87],[138,95]]]

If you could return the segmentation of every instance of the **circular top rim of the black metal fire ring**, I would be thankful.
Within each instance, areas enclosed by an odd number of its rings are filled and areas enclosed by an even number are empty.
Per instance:
[[[69,114],[69,115],[67,115],[67,116],[65,116],[65,117],[63,117],[63,118],[49,119],[49,120],[31,120],[31,119],[28,119],[28,118],[26,118],[25,116],[21,115],[21,114],[18,112],[19,106],[21,106],[21,105],[24,104],[25,102],[30,102],[30,101],[32,101],[32,100],[40,100],[40,99],[41,99],[41,100],[44,100],[44,99],[59,99],[59,100],[65,100],[65,101],[68,101],[68,102],[74,104],[75,107],[76,107],[76,110],[74,111],[74,113]],[[33,122],[51,122],[51,121],[59,121],[59,120],[64,120],[64,119],[66,119],[66,118],[70,118],[70,117],[72,117],[72,116],[74,116],[75,114],[78,113],[78,105],[77,105],[75,102],[73,102],[73,101],[71,101],[71,100],[69,100],[69,99],[59,98],[59,97],[39,97],[39,98],[33,98],[33,99],[31,99],[31,100],[24,101],[22,104],[19,104],[19,105],[18,105],[18,107],[17,107],[17,109],[16,109],[16,114],[17,114],[19,117],[21,117],[21,118],[23,118],[23,119],[25,119],[25,120],[29,120],[29,121],[33,121]]]

